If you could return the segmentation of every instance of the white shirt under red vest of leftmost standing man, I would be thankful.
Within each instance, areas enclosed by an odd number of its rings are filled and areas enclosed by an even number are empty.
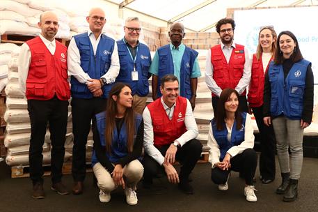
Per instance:
[[[54,55],[56,49],[55,39],[52,41],[47,40],[40,34],[40,38],[49,50]],[[26,91],[26,78],[29,74],[29,66],[31,63],[31,51],[29,45],[24,43],[20,49],[19,59],[17,61],[18,74],[19,74],[19,86],[23,93]]]

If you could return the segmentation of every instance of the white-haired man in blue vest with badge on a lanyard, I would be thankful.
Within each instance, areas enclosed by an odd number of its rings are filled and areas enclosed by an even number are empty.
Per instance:
[[[116,82],[129,84],[134,96],[133,109],[143,114],[149,93],[150,50],[147,45],[138,40],[141,32],[138,17],[128,17],[124,31],[125,37],[117,41],[120,71]]]

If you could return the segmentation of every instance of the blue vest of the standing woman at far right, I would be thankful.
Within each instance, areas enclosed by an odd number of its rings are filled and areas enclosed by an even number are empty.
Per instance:
[[[309,61],[294,63],[284,79],[283,65],[269,66],[271,83],[271,116],[284,114],[289,119],[299,120],[303,114],[303,96]]]

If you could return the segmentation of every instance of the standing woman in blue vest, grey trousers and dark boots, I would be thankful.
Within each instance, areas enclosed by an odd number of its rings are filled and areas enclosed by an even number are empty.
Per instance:
[[[292,202],[298,195],[303,165],[303,129],[312,120],[314,77],[290,31],[278,35],[275,59],[264,86],[264,123],[273,124],[282,183],[277,194]],[[291,156],[289,158],[288,148]]]

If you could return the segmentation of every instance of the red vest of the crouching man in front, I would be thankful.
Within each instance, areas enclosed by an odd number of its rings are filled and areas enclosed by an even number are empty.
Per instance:
[[[154,146],[160,147],[171,144],[186,132],[184,118],[186,116],[186,98],[178,96],[173,111],[173,118],[170,120],[161,103],[161,98],[147,105],[152,119],[154,130]]]

